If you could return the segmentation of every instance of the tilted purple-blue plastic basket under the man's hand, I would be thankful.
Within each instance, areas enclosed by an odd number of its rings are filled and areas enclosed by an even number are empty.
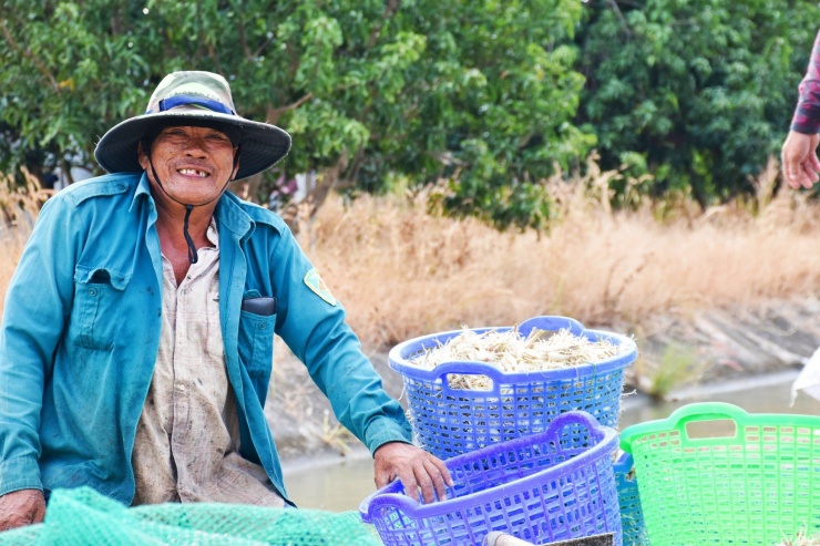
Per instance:
[[[588,413],[564,413],[540,434],[447,461],[447,499],[422,504],[397,481],[359,512],[386,546],[475,546],[492,530],[533,544],[615,533],[621,546],[617,441]]]

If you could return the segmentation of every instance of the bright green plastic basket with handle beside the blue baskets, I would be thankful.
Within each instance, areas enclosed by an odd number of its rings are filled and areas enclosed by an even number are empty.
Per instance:
[[[708,422],[713,431],[695,431]],[[820,533],[820,418],[689,404],[627,427],[653,546],[775,545]]]

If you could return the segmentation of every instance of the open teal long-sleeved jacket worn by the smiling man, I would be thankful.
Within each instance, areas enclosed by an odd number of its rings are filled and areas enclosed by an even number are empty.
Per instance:
[[[345,310],[307,286],[312,266],[281,218],[229,193],[215,217],[242,455],[260,464],[287,498],[264,413],[274,332],[371,453],[386,442],[409,442],[403,411],[382,390]],[[131,504],[131,453],[160,342],[155,224],[140,174],[74,184],[43,206],[0,327],[0,495],[88,485]],[[242,310],[244,298],[258,296],[275,297],[277,313]]]

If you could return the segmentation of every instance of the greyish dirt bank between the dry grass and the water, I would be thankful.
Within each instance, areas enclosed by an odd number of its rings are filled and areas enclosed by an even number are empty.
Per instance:
[[[698,384],[799,369],[820,347],[820,299],[771,300],[674,312],[635,323],[586,326],[635,337],[640,358],[629,369],[628,388],[674,393]],[[401,375],[388,367],[387,349],[366,352],[388,393],[401,396]],[[338,424],[305,368],[286,350],[277,350],[267,415],[284,460],[342,454],[358,444]]]

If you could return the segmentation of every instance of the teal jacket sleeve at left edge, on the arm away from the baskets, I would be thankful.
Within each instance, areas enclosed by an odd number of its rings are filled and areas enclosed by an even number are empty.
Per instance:
[[[61,196],[45,203],[6,293],[0,324],[0,495],[42,490],[40,411],[73,299],[72,208]]]

